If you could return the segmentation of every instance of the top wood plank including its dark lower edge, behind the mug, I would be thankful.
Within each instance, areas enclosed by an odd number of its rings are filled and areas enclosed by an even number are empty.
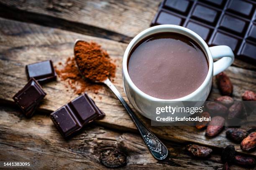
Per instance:
[[[0,17],[130,42],[149,27],[161,0],[0,0]],[[233,65],[256,70],[236,59]]]

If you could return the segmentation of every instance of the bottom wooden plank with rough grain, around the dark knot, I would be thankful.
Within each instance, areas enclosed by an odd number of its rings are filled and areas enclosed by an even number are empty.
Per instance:
[[[70,140],[64,140],[49,116],[36,114],[31,119],[19,111],[0,107],[0,161],[30,162],[33,169],[106,169],[100,163],[100,153],[118,150],[127,156],[122,169],[222,169],[218,150],[208,159],[192,157],[185,145],[164,141],[169,156],[155,160],[139,135],[114,132],[87,125]],[[233,165],[232,168],[243,168]]]

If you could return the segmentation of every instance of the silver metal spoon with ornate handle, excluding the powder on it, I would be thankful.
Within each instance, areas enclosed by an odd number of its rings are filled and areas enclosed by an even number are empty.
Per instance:
[[[80,39],[75,40],[75,45],[77,42],[83,41]],[[74,52],[75,53],[75,52]],[[76,61],[77,64],[77,61]],[[79,69],[79,66],[77,64],[77,67]],[[80,70],[79,70],[80,71]],[[81,71],[80,71],[81,73]],[[82,75],[82,74],[81,74]],[[83,76],[83,75],[82,75]],[[85,77],[84,77],[85,78]],[[97,82],[99,83],[99,82]],[[110,90],[115,94],[115,96],[120,100],[120,102],[123,104],[129,115],[131,116],[133,122],[135,123],[136,127],[138,128],[139,132],[141,133],[141,136],[146,143],[148,149],[150,150],[151,154],[154,156],[154,158],[158,160],[164,160],[168,155],[168,150],[166,146],[152,133],[134,114],[133,110],[131,110],[131,107],[125,102],[123,97],[121,96],[120,92],[117,90],[117,88],[113,85],[113,83],[110,81],[109,78],[102,81],[101,83],[104,83],[107,85]]]

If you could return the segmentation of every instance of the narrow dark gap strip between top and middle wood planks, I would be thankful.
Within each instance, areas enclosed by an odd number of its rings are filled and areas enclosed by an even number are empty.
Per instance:
[[[8,18],[11,20],[18,20],[27,23],[36,23],[38,25],[44,25],[52,28],[61,28],[63,30],[69,30],[72,32],[78,32],[81,34],[103,37],[118,42],[129,42],[132,38],[114,32],[111,30],[87,25],[86,23],[78,23],[74,20],[66,20],[50,15],[44,15],[39,13],[28,12],[19,9],[13,9],[12,7],[1,4],[0,2],[0,17]]]

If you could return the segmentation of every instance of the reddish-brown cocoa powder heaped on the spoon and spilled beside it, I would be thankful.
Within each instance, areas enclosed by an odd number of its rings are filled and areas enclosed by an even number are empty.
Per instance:
[[[77,45],[75,47],[75,57],[79,55],[82,59],[79,61],[79,64],[84,65],[82,70],[84,77],[98,81],[104,80],[107,77],[115,77],[116,66],[111,62],[108,53],[100,48],[100,45],[95,42],[85,42],[82,44],[78,42]],[[91,91],[97,94],[98,90],[103,86],[83,79],[76,65],[75,57],[67,58],[64,64],[59,63],[59,65],[63,65],[63,68],[57,69],[55,67],[57,75],[62,81],[67,82],[68,86],[78,95],[85,91]]]

